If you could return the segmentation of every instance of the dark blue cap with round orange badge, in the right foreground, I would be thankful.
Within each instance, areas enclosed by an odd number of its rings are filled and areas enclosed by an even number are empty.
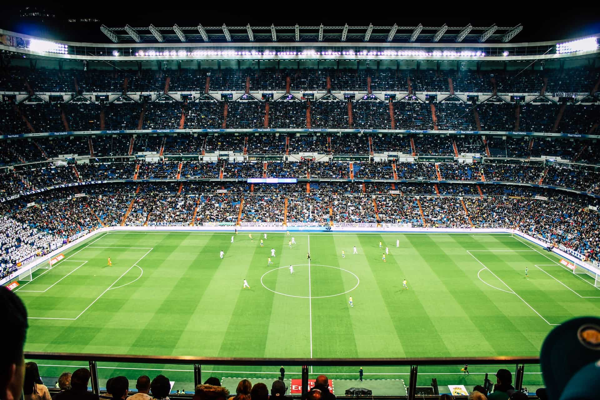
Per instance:
[[[596,317],[580,317],[566,321],[565,323],[555,327],[544,340],[540,356],[542,367],[542,376],[546,384],[548,399],[571,399],[565,388],[569,386],[569,390],[574,389],[571,380],[579,381],[596,371],[600,370],[594,367],[594,362],[600,359],[600,318]],[[586,367],[585,369],[583,369]],[[596,368],[596,369],[595,369]],[[591,375],[593,376],[593,375]],[[596,375],[596,381],[598,381]],[[583,384],[583,387],[578,390],[581,395],[581,390],[589,390],[590,398],[598,396],[598,391],[594,390],[592,378]],[[597,388],[596,388],[597,389]],[[562,397],[563,395],[563,397]],[[586,397],[581,397],[586,398]]]

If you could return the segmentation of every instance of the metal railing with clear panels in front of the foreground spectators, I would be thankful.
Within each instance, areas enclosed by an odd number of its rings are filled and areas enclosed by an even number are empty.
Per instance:
[[[463,372],[460,368],[464,365],[473,366],[475,368],[478,367],[487,367],[488,371],[481,373],[479,372],[478,377],[473,377],[472,383],[480,384],[484,386],[488,391],[491,391],[493,388],[493,384],[495,383],[494,373],[499,368],[509,369],[514,375],[513,385],[517,390],[523,390],[526,392],[531,392],[532,387],[543,387],[544,383],[541,380],[541,373],[539,372],[539,358],[538,357],[468,357],[468,358],[458,358],[458,357],[443,357],[443,358],[385,358],[385,359],[365,359],[365,358],[356,358],[356,359],[314,359],[314,358],[242,358],[242,357],[193,357],[193,356],[133,356],[133,355],[118,355],[118,354],[85,354],[85,353],[43,353],[43,352],[26,352],[25,360],[27,361],[36,361],[38,366],[40,366],[40,371],[43,377],[50,377],[58,381],[58,375],[62,372],[71,371],[77,368],[89,368],[91,372],[91,390],[94,393],[99,394],[101,390],[101,381],[106,381],[107,378],[121,375],[121,374],[130,374],[131,371],[136,371],[134,376],[128,376],[129,380],[135,380],[137,376],[139,376],[142,372],[147,373],[145,371],[151,371],[153,375],[158,375],[164,372],[164,374],[169,374],[169,371],[185,371],[189,372],[187,378],[189,381],[178,381],[178,384],[187,383],[187,387],[190,387],[191,383],[193,383],[193,387],[196,387],[198,384],[202,384],[206,378],[209,376],[214,376],[214,372],[227,372],[227,371],[208,371],[208,373],[203,374],[203,367],[212,368],[213,366],[251,366],[251,367],[274,367],[274,371],[278,371],[280,366],[284,366],[292,371],[298,371],[300,369],[300,373],[292,372],[291,375],[295,375],[296,377],[300,375],[299,379],[292,378],[292,382],[296,381],[299,384],[292,383],[293,387],[290,385],[290,395],[293,397],[299,398],[302,396],[304,398],[305,393],[311,387],[309,380],[314,380],[317,375],[320,375],[321,372],[311,372],[313,367],[329,367],[329,368],[351,368],[348,371],[352,371],[351,375],[353,375],[353,380],[344,384],[341,389],[337,389],[337,392],[334,390],[334,394],[338,397],[344,396],[347,389],[351,389],[354,387],[364,387],[364,389],[368,389],[368,386],[374,384],[374,380],[371,378],[365,378],[365,381],[359,381],[356,379],[356,375],[358,375],[358,368],[364,367],[385,367],[385,368],[398,368],[397,373],[387,373],[386,376],[395,375],[397,377],[403,376],[408,377],[407,384],[404,383],[403,386],[406,386],[406,390],[401,390],[398,393],[388,393],[386,395],[377,395],[377,393],[372,393],[368,395],[369,398],[397,398],[397,399],[407,399],[414,400],[416,398],[419,399],[438,399],[440,393],[450,393],[452,386],[457,386],[456,390],[459,390],[462,386],[462,389],[465,390],[464,384],[458,385],[447,385],[447,384],[438,384],[437,378],[431,378],[436,375],[433,372],[428,372],[427,368],[437,367],[437,368],[452,368],[458,373],[453,375],[463,375]],[[48,363],[47,363],[48,362]],[[70,363],[77,362],[77,365],[57,365],[56,362]],[[106,366],[99,366],[99,363],[107,364]],[[110,364],[110,365],[109,365]],[[165,366],[178,366],[178,369],[167,369]],[[182,369],[182,366],[191,367],[190,369]],[[49,376],[49,369],[53,367],[63,367],[64,370],[54,369],[53,373],[56,376]],[[163,367],[163,368],[161,368]],[[358,367],[358,368],[356,368]],[[424,372],[419,372],[419,367]],[[106,369],[107,375],[103,376],[103,374],[98,373],[98,369]],[[403,369],[401,369],[403,368]],[[233,368],[236,369],[236,368]],[[118,372],[119,370],[125,370],[129,372]],[[58,372],[60,371],[60,372]],[[400,372],[400,371],[408,371],[408,372]],[[527,372],[526,372],[527,371]],[[235,372],[235,371],[231,371]],[[52,373],[52,372],[51,372]],[[235,378],[235,383],[243,377],[244,372],[235,372],[238,374]],[[266,374],[275,374],[271,375],[271,378],[262,378]],[[210,375],[209,375],[210,374]],[[253,381],[272,381],[278,378],[277,372],[254,372],[254,374],[258,374],[258,377],[250,377]],[[290,375],[290,372],[286,372],[286,374]],[[423,375],[420,376],[419,374]],[[446,373],[448,374],[448,373]],[[533,382],[533,385],[530,387],[524,387],[524,377],[525,374],[537,374],[540,379]],[[242,375],[240,377],[239,375]],[[261,377],[262,375],[262,377]],[[340,372],[339,375],[349,375],[348,372]],[[442,374],[443,375],[443,374]],[[465,374],[466,375],[466,374]],[[481,376],[480,376],[481,375]],[[470,376],[470,375],[467,375]],[[328,378],[331,381],[335,381],[335,375],[328,375]],[[479,379],[481,378],[481,379]],[[224,380],[225,378],[223,378]],[[390,380],[389,378],[383,378],[383,380]],[[193,382],[192,382],[193,381]],[[347,381],[347,379],[344,379]],[[457,381],[460,381],[457,378]],[[330,383],[331,385],[331,383]],[[345,386],[348,386],[347,388]],[[470,385],[469,386],[475,386]],[[336,387],[339,387],[336,386]],[[172,387],[172,392],[175,392],[177,389],[175,386]],[[233,387],[228,387],[230,391],[235,390]],[[532,393],[535,390],[532,391]],[[186,393],[187,390],[186,390]],[[464,393],[464,392],[462,392]],[[461,392],[452,393],[455,399],[464,399],[467,398],[466,395],[461,394]],[[295,395],[295,396],[294,396]],[[346,394],[346,397],[360,397],[361,395],[356,394]],[[535,396],[531,398],[536,398]]]

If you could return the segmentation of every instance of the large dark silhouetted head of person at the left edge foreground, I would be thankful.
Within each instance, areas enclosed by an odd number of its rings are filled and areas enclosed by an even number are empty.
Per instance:
[[[10,343],[2,349],[0,359],[0,398],[20,399],[23,391],[25,360],[23,344],[27,333],[27,311],[23,302],[4,286],[0,287],[0,343]]]

